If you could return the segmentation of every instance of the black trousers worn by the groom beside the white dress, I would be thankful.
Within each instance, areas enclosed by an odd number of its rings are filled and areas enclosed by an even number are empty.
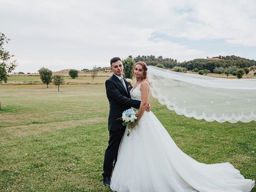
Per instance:
[[[102,176],[104,178],[110,177],[113,171],[113,164],[115,165],[118,155],[118,149],[122,137],[124,135],[126,126],[122,126],[122,128],[116,131],[109,132],[109,141],[108,148],[106,149],[104,156],[104,164],[103,164],[103,173]]]

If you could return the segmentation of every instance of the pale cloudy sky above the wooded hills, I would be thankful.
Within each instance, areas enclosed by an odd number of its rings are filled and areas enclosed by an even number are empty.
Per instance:
[[[256,60],[255,10],[255,0],[0,0],[0,32],[26,73],[129,55]]]

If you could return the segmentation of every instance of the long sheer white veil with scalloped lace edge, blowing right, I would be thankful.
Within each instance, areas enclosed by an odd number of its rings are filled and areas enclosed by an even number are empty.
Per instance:
[[[256,79],[224,79],[148,66],[154,98],[179,115],[206,121],[256,121]]]

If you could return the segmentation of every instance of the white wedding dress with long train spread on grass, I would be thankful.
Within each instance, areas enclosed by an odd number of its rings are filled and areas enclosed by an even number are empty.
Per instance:
[[[140,85],[131,93],[141,100]],[[122,138],[110,188],[117,192],[250,192],[229,162],[203,164],[182,152],[152,112]]]

